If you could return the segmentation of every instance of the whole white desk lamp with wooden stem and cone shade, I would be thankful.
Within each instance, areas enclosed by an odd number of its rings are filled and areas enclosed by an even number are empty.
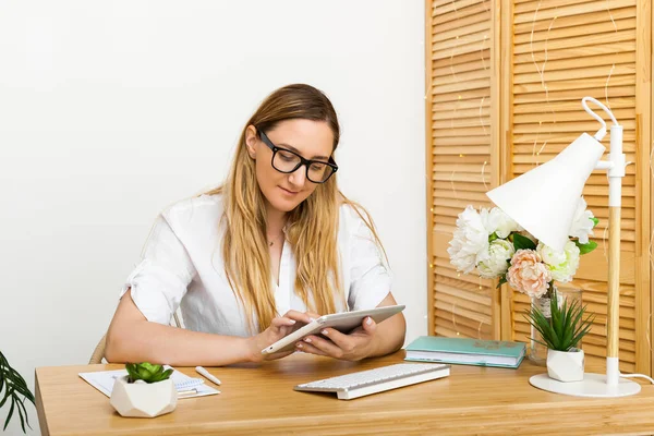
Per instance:
[[[595,137],[581,134],[572,144],[546,164],[489,191],[486,195],[526,231],[550,247],[562,251],[569,240],[583,185],[595,169],[608,170],[608,292],[606,375],[584,374],[583,382],[562,383],[547,374],[531,377],[530,384],[552,392],[579,397],[625,397],[638,393],[638,383],[620,378],[619,307],[620,307],[620,205],[625,161],[622,126],[611,111],[594,98],[584,97],[582,106],[602,123]],[[592,101],[610,116],[610,153],[600,160],[605,147],[606,123],[586,105]]]

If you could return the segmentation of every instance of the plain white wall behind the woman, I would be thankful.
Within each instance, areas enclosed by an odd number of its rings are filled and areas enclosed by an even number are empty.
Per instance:
[[[2,1],[0,350],[29,386],[87,362],[157,213],[220,182],[294,82],[337,108],[341,189],[426,334],[423,23],[417,0]]]

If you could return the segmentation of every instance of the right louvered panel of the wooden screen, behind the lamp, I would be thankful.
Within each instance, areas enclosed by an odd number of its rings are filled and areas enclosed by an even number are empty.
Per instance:
[[[594,134],[598,130],[600,124],[581,107],[584,96],[595,97],[613,110],[625,129],[627,160],[640,160],[637,150],[637,0],[516,0],[512,24],[509,98],[512,142],[508,178],[552,159],[582,132]],[[601,110],[598,113],[604,114]],[[608,135],[603,143],[608,147]],[[639,270],[637,258],[637,229],[649,229],[650,222],[649,201],[643,208],[637,198],[638,168],[627,167],[622,187],[619,342],[620,370],[625,372],[637,368],[637,323],[641,318],[637,304],[646,296],[637,295],[637,282],[642,274],[647,275],[649,282],[649,268]],[[649,183],[649,178],[646,180]],[[606,356],[607,194],[606,173],[593,173],[586,182],[584,197],[600,219],[594,238],[598,249],[582,257],[576,280],[568,283],[583,290],[584,304],[596,314],[594,327],[583,340],[583,349],[586,362],[598,366]],[[649,295],[649,289],[638,292]],[[529,325],[520,315],[525,308],[528,299],[513,293],[516,340],[528,340]],[[649,372],[649,365],[641,371]]]

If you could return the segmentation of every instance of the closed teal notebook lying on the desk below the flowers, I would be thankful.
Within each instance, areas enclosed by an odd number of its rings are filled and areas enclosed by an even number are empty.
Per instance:
[[[523,342],[421,336],[407,347],[407,361],[517,368],[524,359]]]

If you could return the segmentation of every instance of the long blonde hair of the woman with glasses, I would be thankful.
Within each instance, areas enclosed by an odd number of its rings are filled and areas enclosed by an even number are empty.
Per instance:
[[[255,161],[246,152],[245,133],[249,125],[255,126],[257,132],[266,132],[291,119],[326,122],[334,133],[332,153],[336,150],[340,128],[327,96],[308,85],[288,85],[270,94],[250,118],[241,133],[226,182],[206,193],[222,195],[225,211],[220,225],[225,230],[221,247],[225,271],[237,298],[251,315],[252,331],[255,329],[252,315],[256,315],[258,330],[262,331],[275,316],[282,314],[276,312],[266,242],[265,201],[256,181]],[[343,306],[347,304],[340,286],[337,246],[341,204],[354,208],[379,243],[370,215],[338,191],[336,174],[318,184],[304,202],[288,214],[286,235],[295,255],[295,293],[310,311],[318,314],[336,312],[336,298]]]

